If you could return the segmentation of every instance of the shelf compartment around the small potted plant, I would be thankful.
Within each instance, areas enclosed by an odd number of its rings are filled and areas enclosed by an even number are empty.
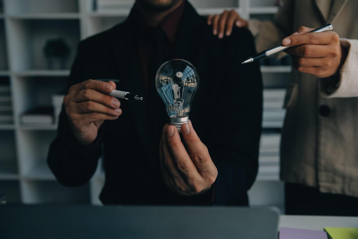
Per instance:
[[[9,54],[14,72],[49,70],[43,47],[48,39],[63,38],[70,48],[63,67],[68,70],[80,40],[79,20],[9,19]]]

